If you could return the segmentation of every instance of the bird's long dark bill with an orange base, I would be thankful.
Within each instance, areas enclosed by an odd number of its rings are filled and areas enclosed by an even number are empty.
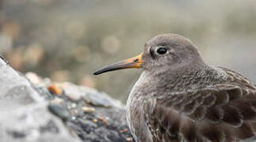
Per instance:
[[[141,68],[142,64],[142,54],[139,54],[134,58],[128,58],[127,60],[117,62],[112,65],[107,65],[101,69],[98,69],[96,72],[94,72],[94,75],[99,75],[101,73],[106,73],[117,69]]]

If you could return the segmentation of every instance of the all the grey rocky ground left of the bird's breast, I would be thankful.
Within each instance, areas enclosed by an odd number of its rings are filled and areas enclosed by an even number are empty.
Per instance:
[[[134,141],[124,106],[105,93],[24,76],[3,58],[0,80],[0,141]]]

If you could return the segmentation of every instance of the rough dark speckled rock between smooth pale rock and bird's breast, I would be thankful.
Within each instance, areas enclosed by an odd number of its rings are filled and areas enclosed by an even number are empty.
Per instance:
[[[55,97],[63,99],[61,106],[70,113],[65,123],[83,141],[126,142],[131,139],[129,131],[120,133],[128,129],[125,109],[120,101],[93,88],[71,83],[56,85],[62,86],[64,93]]]

